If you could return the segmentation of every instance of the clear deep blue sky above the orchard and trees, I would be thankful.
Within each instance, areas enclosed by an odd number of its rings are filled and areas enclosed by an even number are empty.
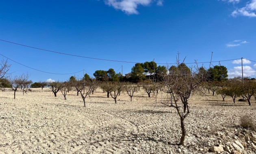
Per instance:
[[[240,61],[256,61],[256,0],[8,0],[0,2],[0,39],[79,56],[156,63],[213,61],[241,75]],[[134,63],[72,57],[0,41],[0,53],[50,73],[113,68],[129,73]],[[2,58],[2,56],[0,56]],[[244,75],[256,77],[256,62]],[[10,73],[65,81],[71,75],[42,73],[9,60]],[[218,65],[219,62],[213,63]],[[161,64],[163,65],[163,64]],[[208,66],[208,63],[204,64]]]

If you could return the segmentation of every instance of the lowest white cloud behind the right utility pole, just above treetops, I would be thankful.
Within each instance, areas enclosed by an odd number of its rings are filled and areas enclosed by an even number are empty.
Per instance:
[[[243,66],[243,76],[250,77],[256,75],[256,71],[251,66]],[[242,76],[242,66],[236,66],[228,71],[228,78]]]

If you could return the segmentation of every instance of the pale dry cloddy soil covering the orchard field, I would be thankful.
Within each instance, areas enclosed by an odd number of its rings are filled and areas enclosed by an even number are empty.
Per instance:
[[[75,91],[66,101],[48,88],[16,94],[13,99],[13,92],[0,92],[0,154],[207,154],[212,146],[239,138],[241,115],[256,116],[256,101],[249,107],[230,98],[222,102],[221,96],[194,95],[181,146],[176,110],[155,103],[143,90],[131,102],[122,93],[115,104],[98,89],[86,98],[87,107]],[[248,146],[243,153],[255,150]]]

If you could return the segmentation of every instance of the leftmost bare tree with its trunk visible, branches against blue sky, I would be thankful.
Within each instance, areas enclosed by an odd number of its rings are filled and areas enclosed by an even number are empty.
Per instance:
[[[11,89],[14,91],[14,99],[16,98],[16,91],[22,86],[22,84],[28,80],[28,75],[15,76],[14,78],[9,77],[9,84]]]

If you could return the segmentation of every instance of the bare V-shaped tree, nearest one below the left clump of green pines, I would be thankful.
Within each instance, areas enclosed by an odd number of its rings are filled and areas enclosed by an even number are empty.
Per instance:
[[[122,91],[123,83],[121,82],[108,82],[107,86],[110,89],[110,96],[115,100],[115,104],[117,103],[117,96]]]

